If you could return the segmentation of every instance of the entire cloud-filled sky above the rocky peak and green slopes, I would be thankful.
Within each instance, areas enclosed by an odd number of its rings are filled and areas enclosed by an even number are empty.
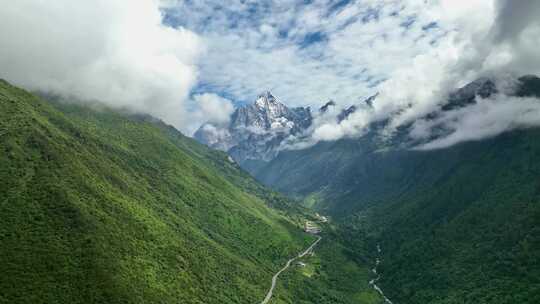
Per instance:
[[[315,117],[310,145],[385,119],[391,135],[482,76],[540,74],[539,14],[533,0],[21,0],[0,12],[0,77],[188,134],[267,89],[337,109],[379,93],[346,119]]]

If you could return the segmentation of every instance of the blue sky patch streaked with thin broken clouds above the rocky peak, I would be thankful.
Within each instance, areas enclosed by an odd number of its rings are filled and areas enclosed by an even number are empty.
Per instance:
[[[164,22],[201,37],[193,94],[236,104],[271,90],[290,105],[351,104],[451,28],[424,1],[178,1]]]

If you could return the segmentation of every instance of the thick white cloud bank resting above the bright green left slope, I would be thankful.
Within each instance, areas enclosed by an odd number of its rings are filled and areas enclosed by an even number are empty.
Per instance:
[[[199,37],[162,24],[157,0],[20,0],[0,10],[0,77],[188,125]]]

